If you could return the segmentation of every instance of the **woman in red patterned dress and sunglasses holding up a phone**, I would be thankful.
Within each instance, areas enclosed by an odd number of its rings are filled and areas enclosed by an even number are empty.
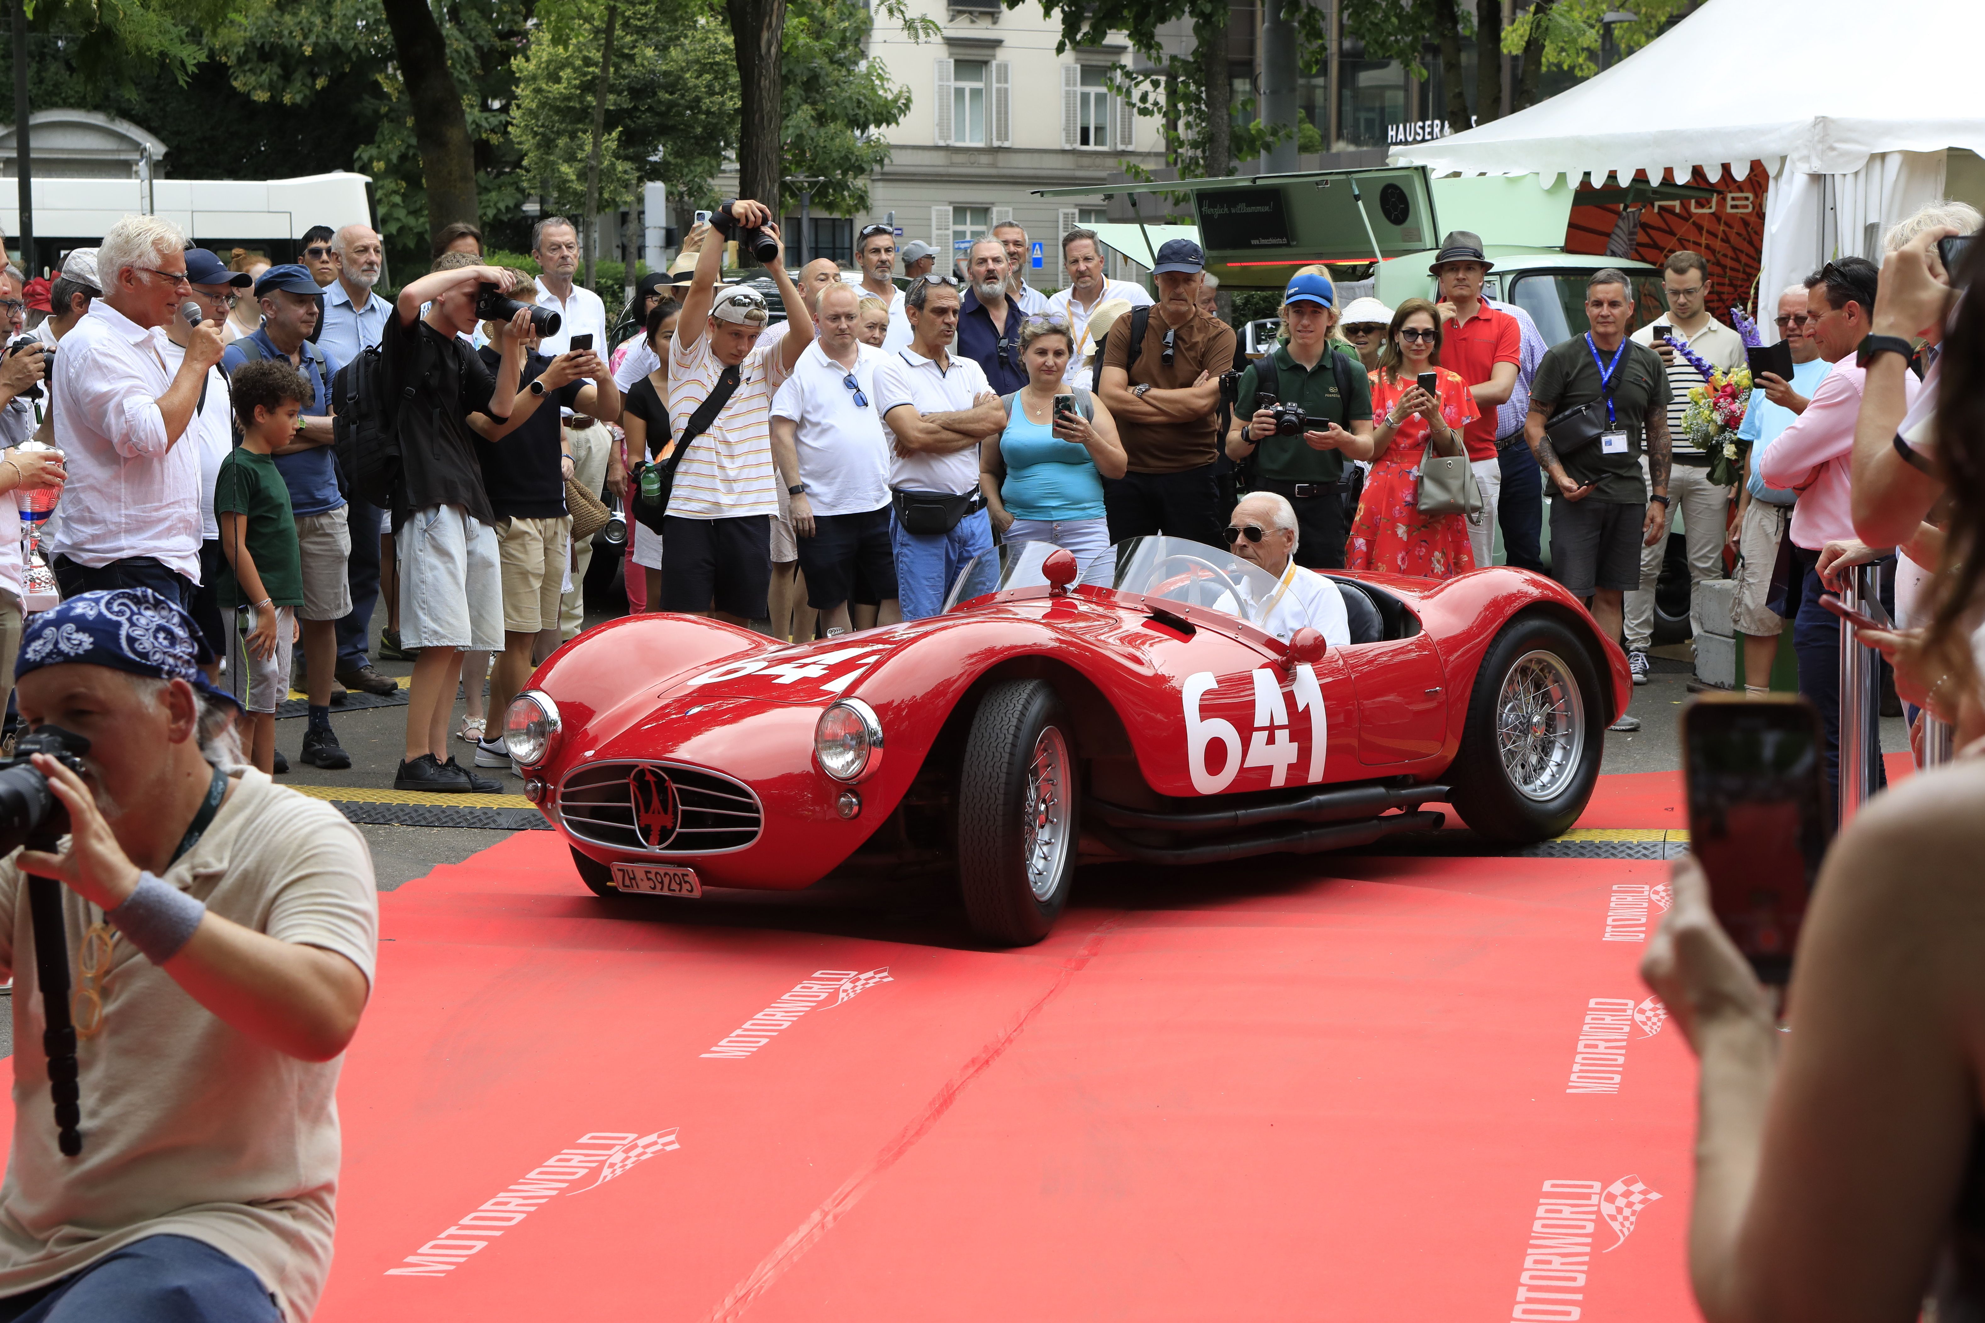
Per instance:
[[[1372,476],[1352,522],[1346,569],[1419,579],[1475,569],[1467,516],[1419,512],[1419,460],[1463,454],[1461,428],[1475,417],[1467,383],[1441,367],[1441,313],[1427,300],[1405,300],[1372,373]]]

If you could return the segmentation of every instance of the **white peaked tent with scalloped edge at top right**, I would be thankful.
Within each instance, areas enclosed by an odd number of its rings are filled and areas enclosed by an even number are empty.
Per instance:
[[[1943,196],[1945,151],[1985,155],[1977,52],[1985,4],[1709,0],[1604,73],[1467,133],[1413,143],[1393,165],[1435,175],[1659,179],[1691,167],[1771,175],[1759,301]],[[1725,292],[1735,294],[1735,292]],[[1771,331],[1763,319],[1761,329]]]

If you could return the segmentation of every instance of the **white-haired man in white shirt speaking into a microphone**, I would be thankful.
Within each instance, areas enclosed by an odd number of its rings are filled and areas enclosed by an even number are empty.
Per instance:
[[[220,321],[165,369],[167,317],[193,286],[187,240],[161,216],[125,216],[97,248],[103,298],[62,345],[54,381],[56,446],[69,486],[50,540],[64,597],[147,587],[181,607],[200,579],[200,448],[181,446],[206,369],[220,361]]]

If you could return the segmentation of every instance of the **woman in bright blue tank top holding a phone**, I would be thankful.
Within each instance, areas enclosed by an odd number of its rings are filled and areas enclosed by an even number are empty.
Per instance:
[[[1020,327],[1026,385],[1006,397],[1006,430],[979,444],[979,486],[1008,547],[1054,543],[1076,555],[1084,583],[1108,585],[1104,478],[1122,478],[1127,460],[1104,403],[1062,385],[1068,351],[1060,317],[1028,317]]]

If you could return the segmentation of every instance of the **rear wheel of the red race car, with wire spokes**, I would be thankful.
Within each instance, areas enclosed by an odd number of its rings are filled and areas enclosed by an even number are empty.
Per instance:
[[[1534,708],[1546,736],[1505,758],[1501,718],[1505,710],[1519,716],[1517,704],[1532,692],[1548,702],[1548,708]],[[1552,720],[1560,710],[1562,724]],[[1592,797],[1604,726],[1606,694],[1572,627],[1544,615],[1517,617],[1495,637],[1475,672],[1461,750],[1447,770],[1461,821],[1491,841],[1528,845],[1562,835]],[[1534,732],[1538,724],[1521,722],[1517,730]],[[1532,758],[1522,758],[1524,752]],[[1528,789],[1521,782],[1528,782]]]

